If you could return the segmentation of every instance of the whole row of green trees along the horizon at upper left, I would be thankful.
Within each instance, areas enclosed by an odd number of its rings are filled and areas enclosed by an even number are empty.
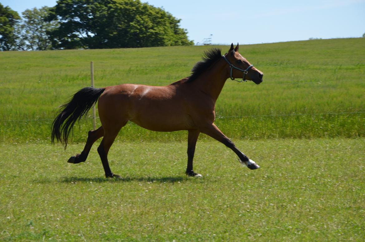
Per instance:
[[[0,50],[192,45],[181,19],[140,0],[58,0],[22,17],[0,3]]]

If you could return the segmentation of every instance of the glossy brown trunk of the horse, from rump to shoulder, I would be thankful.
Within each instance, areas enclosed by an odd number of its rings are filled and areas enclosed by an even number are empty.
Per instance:
[[[100,96],[100,120],[132,121],[154,131],[189,129],[192,121],[187,114],[184,94],[178,85],[146,86],[121,84],[105,88]]]

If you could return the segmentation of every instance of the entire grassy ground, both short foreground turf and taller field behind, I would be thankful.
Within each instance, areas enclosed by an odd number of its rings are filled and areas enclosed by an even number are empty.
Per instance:
[[[261,166],[201,135],[127,124],[109,152],[50,145],[57,107],[90,85],[167,85],[208,46],[0,52],[0,241],[362,241],[365,239],[365,38],[242,45],[264,82],[227,80],[216,125]],[[218,46],[225,53],[228,46]]]

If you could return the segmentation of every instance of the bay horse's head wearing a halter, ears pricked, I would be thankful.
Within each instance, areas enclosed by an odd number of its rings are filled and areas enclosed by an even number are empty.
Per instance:
[[[230,77],[232,80],[235,78],[242,78],[244,81],[251,80],[256,84],[262,82],[262,77],[264,74],[256,69],[251,63],[246,60],[240,53],[238,53],[238,44],[234,48],[231,44],[228,53],[223,56],[229,65]]]

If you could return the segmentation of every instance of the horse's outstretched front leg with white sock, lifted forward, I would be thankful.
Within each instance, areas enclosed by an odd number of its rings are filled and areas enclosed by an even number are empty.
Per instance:
[[[234,145],[234,143],[225,136],[222,131],[218,129],[218,127],[215,124],[207,125],[200,129],[202,133],[205,133],[206,135],[209,135],[210,137],[218,140],[219,142],[226,145],[228,148],[233,150],[233,152],[236,153],[236,155],[239,158],[239,162],[242,165],[247,166],[251,170],[255,170],[257,168],[260,168],[253,160],[249,159],[245,154],[243,154],[241,151],[237,149],[237,147]]]

